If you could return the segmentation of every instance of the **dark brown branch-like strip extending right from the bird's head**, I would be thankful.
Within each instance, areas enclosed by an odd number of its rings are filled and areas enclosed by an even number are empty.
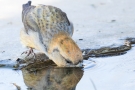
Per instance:
[[[99,49],[83,49],[83,58],[89,57],[106,57],[106,56],[118,56],[127,53],[126,51],[132,48],[131,44],[135,44],[135,38],[128,38],[125,41],[125,45],[118,47],[102,47]]]

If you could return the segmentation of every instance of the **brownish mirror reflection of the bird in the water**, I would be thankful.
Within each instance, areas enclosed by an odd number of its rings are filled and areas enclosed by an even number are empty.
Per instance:
[[[46,62],[29,65],[22,69],[28,90],[75,90],[83,75],[82,68],[45,66],[45,64]]]

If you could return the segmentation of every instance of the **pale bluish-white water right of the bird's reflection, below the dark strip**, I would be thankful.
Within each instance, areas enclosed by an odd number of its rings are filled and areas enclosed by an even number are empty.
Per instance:
[[[77,85],[77,90],[84,88],[96,90],[134,90],[135,89],[135,57],[133,48],[128,54],[109,58],[91,58],[96,65],[91,63],[84,69],[84,76]],[[93,66],[94,67],[91,67]],[[84,67],[85,68],[85,67]],[[90,80],[91,79],[91,80]]]

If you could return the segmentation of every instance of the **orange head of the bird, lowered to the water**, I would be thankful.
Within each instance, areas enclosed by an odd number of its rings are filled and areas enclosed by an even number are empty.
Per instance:
[[[78,64],[79,62],[82,62],[83,56],[82,52],[77,46],[77,44],[72,40],[70,36],[66,33],[59,33],[57,35],[54,35],[54,38],[51,40],[49,45],[48,53],[52,54],[54,52],[57,52],[56,54],[58,58],[53,58],[56,60],[55,63],[58,65],[59,61],[65,60],[67,63],[71,64]],[[57,59],[59,63],[57,63]]]

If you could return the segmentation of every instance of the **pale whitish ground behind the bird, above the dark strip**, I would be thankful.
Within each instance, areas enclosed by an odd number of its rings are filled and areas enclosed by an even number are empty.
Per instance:
[[[0,0],[0,52],[16,57],[24,51],[19,39],[23,27],[22,4],[28,0]],[[31,0],[62,9],[74,24],[73,39],[81,49],[122,44],[119,39],[135,33],[134,0]],[[107,39],[106,39],[107,37]],[[83,39],[80,41],[79,39]],[[111,42],[110,42],[111,41]],[[11,48],[16,48],[11,50]],[[0,54],[0,58],[1,58]]]

